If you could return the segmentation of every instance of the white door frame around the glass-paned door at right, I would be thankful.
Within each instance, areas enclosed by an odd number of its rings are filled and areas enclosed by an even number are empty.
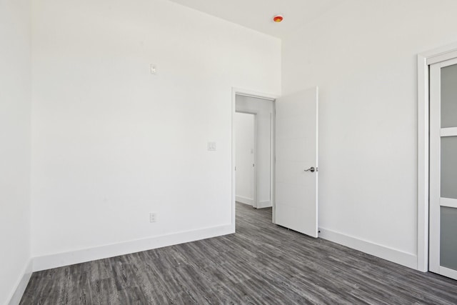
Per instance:
[[[430,98],[429,98],[429,65],[457,57],[457,43],[449,44],[438,49],[426,51],[417,56],[418,74],[418,109],[417,109],[417,269],[428,271],[428,183],[430,179],[429,149],[430,137]]]

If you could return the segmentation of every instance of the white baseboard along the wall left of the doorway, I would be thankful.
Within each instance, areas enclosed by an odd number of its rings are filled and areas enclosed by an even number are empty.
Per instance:
[[[176,234],[151,237],[149,239],[138,239],[126,241],[119,244],[110,244],[91,249],[64,252],[34,258],[33,271],[41,271],[61,266],[94,261],[96,259],[106,259],[113,256],[131,254],[146,251],[164,246],[184,244],[189,241],[209,239],[211,237],[222,236],[235,233],[231,224],[225,226],[214,226],[206,229],[185,231]]]

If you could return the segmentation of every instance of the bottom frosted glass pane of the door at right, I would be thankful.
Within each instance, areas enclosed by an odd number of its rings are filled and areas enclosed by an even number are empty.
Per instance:
[[[457,270],[457,209],[441,206],[440,265]]]

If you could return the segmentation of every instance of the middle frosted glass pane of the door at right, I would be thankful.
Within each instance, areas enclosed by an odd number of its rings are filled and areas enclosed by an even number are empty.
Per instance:
[[[457,136],[441,138],[441,197],[457,199]]]

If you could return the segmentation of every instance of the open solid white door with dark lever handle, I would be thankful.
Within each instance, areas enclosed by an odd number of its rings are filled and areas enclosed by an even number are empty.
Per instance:
[[[318,234],[318,88],[276,99],[275,222]]]

